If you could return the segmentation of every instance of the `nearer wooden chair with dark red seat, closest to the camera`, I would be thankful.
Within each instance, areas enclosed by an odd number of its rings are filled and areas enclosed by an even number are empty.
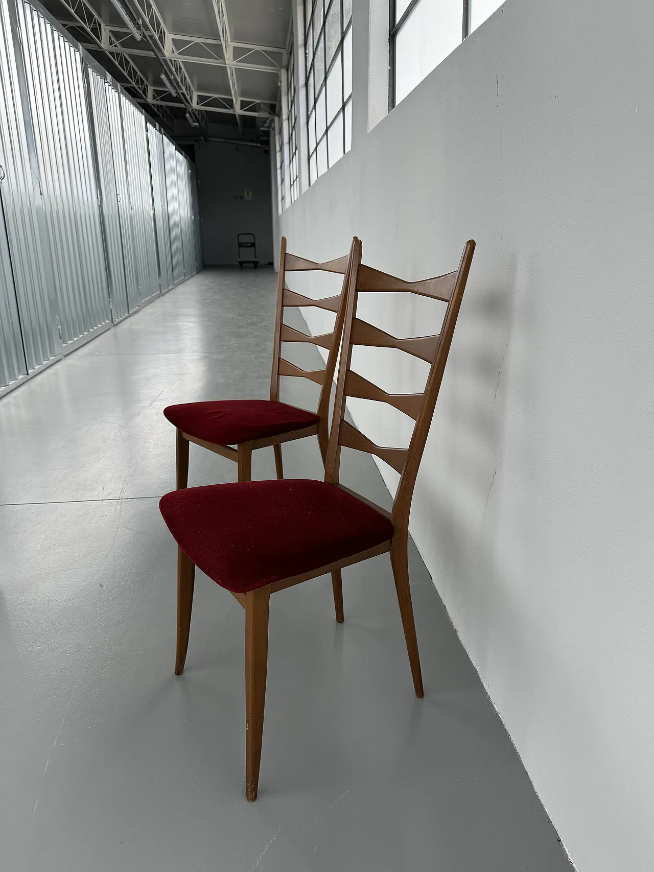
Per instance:
[[[160,501],[161,514],[180,546],[175,674],[181,675],[187,655],[195,566],[228,589],[245,609],[246,794],[250,802],[256,799],[259,782],[271,594],[330,572],[337,615],[342,616],[341,569],[390,551],[413,686],[416,696],[423,696],[406,557],[409,510],[473,250],[474,242],[467,242],[456,272],[424,282],[404,282],[362,265],[361,243],[355,240],[324,481],[193,487],[173,491]],[[446,301],[439,336],[399,339],[360,320],[358,295],[366,291],[411,291]],[[388,394],[362,378],[351,370],[354,344],[397,348],[429,361],[425,391]],[[379,447],[348,424],[344,420],[347,397],[379,400],[414,419],[408,449]],[[376,454],[400,473],[392,512],[339,483],[342,446]]]

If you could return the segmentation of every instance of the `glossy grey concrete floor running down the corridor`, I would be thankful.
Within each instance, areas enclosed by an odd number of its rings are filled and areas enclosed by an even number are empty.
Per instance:
[[[273,597],[254,805],[242,610],[201,574],[174,677],[161,412],[265,397],[274,304],[269,269],[206,271],[0,400],[0,867],[568,870],[415,549],[423,700],[386,556],[344,571],[343,625],[329,578]],[[290,379],[284,399],[310,406],[314,385]],[[370,458],[347,454],[344,481],[388,504]],[[321,476],[314,439],[285,463]],[[257,453],[255,478],[273,472]],[[190,485],[228,480],[235,464],[191,446]]]

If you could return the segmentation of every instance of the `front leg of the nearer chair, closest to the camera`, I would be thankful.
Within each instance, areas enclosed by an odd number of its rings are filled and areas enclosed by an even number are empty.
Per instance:
[[[245,595],[245,771],[246,795],[256,799],[263,737],[263,709],[268,671],[268,607],[270,591]]]

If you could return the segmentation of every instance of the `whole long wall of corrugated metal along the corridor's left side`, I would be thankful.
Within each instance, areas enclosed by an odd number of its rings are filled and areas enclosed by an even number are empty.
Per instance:
[[[0,0],[0,394],[200,268],[194,183],[38,3]]]

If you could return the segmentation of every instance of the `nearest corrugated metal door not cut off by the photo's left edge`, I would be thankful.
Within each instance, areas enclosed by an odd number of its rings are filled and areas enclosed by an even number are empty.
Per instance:
[[[110,320],[82,59],[30,3],[19,20],[65,347]]]

